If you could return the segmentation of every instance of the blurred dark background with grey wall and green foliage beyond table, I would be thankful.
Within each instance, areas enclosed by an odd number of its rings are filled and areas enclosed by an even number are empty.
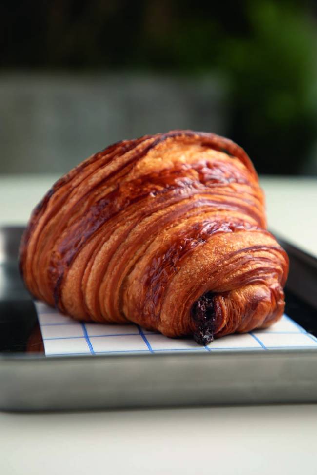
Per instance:
[[[1,173],[191,128],[317,174],[316,1],[4,0],[0,30]]]

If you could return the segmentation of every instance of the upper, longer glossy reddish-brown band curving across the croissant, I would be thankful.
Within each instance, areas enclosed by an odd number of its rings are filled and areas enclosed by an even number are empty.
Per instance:
[[[193,177],[193,171],[198,171],[199,180]],[[210,194],[215,198],[215,186],[230,183],[245,183],[243,177],[234,175],[225,177],[219,169],[216,170],[204,167],[201,164],[193,166],[190,169],[183,166],[178,170],[168,170],[161,173],[152,173],[144,175],[141,178],[128,182],[126,186],[118,185],[115,190],[101,198],[94,204],[88,213],[76,222],[74,226],[68,229],[65,239],[59,244],[57,255],[59,263],[51,265],[52,280],[55,285],[55,302],[58,304],[59,287],[62,282],[62,275],[65,266],[70,266],[79,250],[84,247],[89,238],[96,233],[104,224],[114,218],[119,213],[125,211],[128,207],[146,201],[148,198],[156,198],[156,206],[162,203],[165,207],[167,199],[173,197],[173,201],[182,201],[187,197],[194,197],[197,194]],[[226,171],[228,174],[228,171]],[[218,209],[239,209],[249,211],[249,214],[261,222],[261,213],[259,210],[251,211],[245,206],[245,203],[232,203],[230,196],[221,196],[221,189],[217,191],[220,196],[219,201],[214,199],[214,206]],[[209,201],[212,205],[211,201]],[[143,207],[145,208],[145,204]],[[153,209],[151,209],[153,211]],[[54,269],[57,274],[54,275]]]

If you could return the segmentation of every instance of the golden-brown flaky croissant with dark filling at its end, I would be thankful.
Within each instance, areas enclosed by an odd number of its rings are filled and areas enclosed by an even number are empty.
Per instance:
[[[60,178],[33,211],[20,270],[75,319],[206,345],[281,317],[288,258],[243,149],[177,130],[118,142]]]

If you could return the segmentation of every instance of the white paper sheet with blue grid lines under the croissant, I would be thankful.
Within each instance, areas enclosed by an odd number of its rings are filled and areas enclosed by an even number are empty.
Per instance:
[[[193,339],[167,338],[135,324],[80,323],[42,302],[35,305],[47,356],[317,348],[317,338],[286,315],[265,330],[228,335],[200,346]]]

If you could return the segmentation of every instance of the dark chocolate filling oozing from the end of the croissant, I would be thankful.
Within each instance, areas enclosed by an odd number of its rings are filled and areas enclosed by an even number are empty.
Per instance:
[[[200,345],[207,345],[214,340],[215,308],[214,294],[206,292],[194,302],[191,310],[196,324],[194,340]]]

